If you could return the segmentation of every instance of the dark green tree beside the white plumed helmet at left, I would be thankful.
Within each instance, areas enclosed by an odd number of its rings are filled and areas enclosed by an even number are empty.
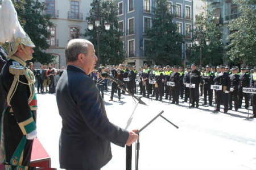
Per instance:
[[[47,27],[51,27],[52,23],[49,20],[50,16],[43,14],[45,4],[40,3],[38,0],[13,2],[20,24],[22,24],[24,31],[27,32],[32,42],[36,45],[32,61],[38,61],[42,64],[51,63],[54,57],[46,53],[45,50],[49,48],[46,39],[49,38],[50,32],[47,31]]]

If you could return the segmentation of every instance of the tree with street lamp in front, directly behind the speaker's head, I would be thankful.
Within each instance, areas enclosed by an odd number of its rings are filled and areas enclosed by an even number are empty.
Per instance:
[[[123,42],[119,37],[123,32],[118,31],[117,20],[117,2],[93,0],[90,4],[92,9],[86,18],[88,22],[94,22],[100,18],[100,26],[93,30],[85,29],[84,37],[88,38],[94,44],[95,49],[100,45],[100,56],[98,64],[119,64],[125,61],[125,52],[123,51]],[[105,30],[104,23],[110,23],[110,30]],[[100,38],[100,44],[97,44],[97,36]]]

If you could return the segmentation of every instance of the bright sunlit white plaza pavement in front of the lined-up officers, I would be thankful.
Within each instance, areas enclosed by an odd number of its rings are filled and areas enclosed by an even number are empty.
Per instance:
[[[109,101],[105,92],[105,107],[110,122],[125,128],[136,105],[128,95],[118,102]],[[256,119],[247,119],[247,110],[212,113],[214,107],[188,109],[188,103],[173,105],[142,98],[148,106],[138,105],[129,129],[141,128],[160,111],[175,128],[159,117],[140,134],[139,169],[256,169]],[[180,99],[183,101],[183,99]],[[244,103],[243,103],[244,106]],[[251,107],[249,116],[252,115]],[[59,167],[59,136],[61,118],[54,94],[38,94],[38,138]],[[133,145],[133,169],[135,169]],[[112,144],[112,160],[102,169],[125,169],[125,148]]]

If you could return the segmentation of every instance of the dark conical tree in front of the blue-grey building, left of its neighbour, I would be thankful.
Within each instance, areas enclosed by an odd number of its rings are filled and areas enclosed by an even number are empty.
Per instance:
[[[172,22],[174,14],[168,10],[167,0],[156,0],[155,3],[152,27],[145,32],[146,38],[150,39],[147,42],[146,57],[160,65],[179,65],[183,36],[177,32],[177,26]]]

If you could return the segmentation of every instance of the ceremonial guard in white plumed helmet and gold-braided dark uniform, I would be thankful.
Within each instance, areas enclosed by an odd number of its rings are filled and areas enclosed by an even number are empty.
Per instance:
[[[26,67],[26,61],[32,59],[35,45],[20,26],[10,0],[2,1],[0,13],[4,14],[0,14],[3,16],[0,42],[9,42],[12,47],[0,74],[0,85],[7,102],[1,121],[1,146],[5,152],[3,164],[5,169],[35,169],[29,167],[32,143],[36,137],[35,76]]]

